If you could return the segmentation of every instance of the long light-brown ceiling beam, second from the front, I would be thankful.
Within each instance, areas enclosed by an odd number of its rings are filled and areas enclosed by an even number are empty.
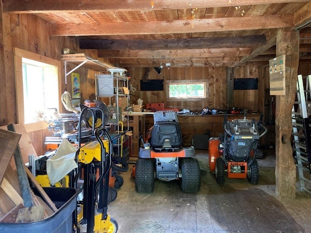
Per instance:
[[[203,18],[144,22],[50,24],[51,36],[230,32],[293,27],[293,15]]]

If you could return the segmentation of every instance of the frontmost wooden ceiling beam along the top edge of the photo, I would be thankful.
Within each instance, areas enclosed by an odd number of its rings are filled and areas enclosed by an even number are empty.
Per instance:
[[[105,11],[152,11],[190,8],[229,7],[272,3],[307,2],[308,0],[5,0],[3,11],[17,14]]]

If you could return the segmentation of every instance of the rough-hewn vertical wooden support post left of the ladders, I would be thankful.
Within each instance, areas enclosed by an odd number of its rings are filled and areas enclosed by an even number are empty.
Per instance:
[[[276,36],[276,56],[286,55],[286,94],[276,96],[276,195],[294,199],[296,168],[291,145],[292,106],[295,100],[299,63],[299,32],[280,29]]]

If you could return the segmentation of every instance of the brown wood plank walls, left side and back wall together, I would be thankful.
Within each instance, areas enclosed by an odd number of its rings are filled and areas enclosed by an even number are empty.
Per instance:
[[[69,48],[77,52],[84,52],[88,56],[97,58],[97,50],[80,50],[76,37],[51,37],[48,33],[48,24],[35,15],[18,15],[0,12],[0,126],[10,123],[17,123],[16,97],[15,97],[15,75],[13,48],[35,52],[56,60],[61,59],[63,48]],[[100,59],[109,62],[107,59]],[[69,65],[69,68],[72,67]],[[164,103],[165,107],[178,109],[189,108],[191,111],[201,111],[202,108],[232,108],[226,106],[226,69],[225,67],[164,67],[158,75],[154,70],[149,73],[149,79],[167,80],[208,80],[209,95],[205,101],[167,101],[164,91],[140,91],[140,80],[144,75],[144,68],[130,67],[131,84],[137,89],[132,93],[131,103],[137,104],[140,98],[146,103]],[[264,110],[264,89],[267,84],[267,68],[256,66],[235,67],[234,78],[259,77],[259,90],[234,91],[234,107],[247,108],[262,112]],[[299,72],[303,75],[311,73],[311,65],[302,64]],[[81,102],[85,99],[95,99],[95,71],[87,70],[84,67],[75,72],[80,74]],[[71,90],[71,82],[65,84],[65,74],[62,68],[62,92]],[[68,81],[70,77],[67,78]],[[263,81],[263,82],[262,82]],[[264,83],[264,85],[262,84]],[[261,89],[260,89],[261,88]],[[61,93],[62,94],[62,93]],[[100,100],[109,103],[107,98]],[[35,103],[34,103],[35,104]],[[61,113],[68,113],[64,107]],[[28,132],[38,155],[44,154],[44,140],[51,133],[46,129],[42,131]]]

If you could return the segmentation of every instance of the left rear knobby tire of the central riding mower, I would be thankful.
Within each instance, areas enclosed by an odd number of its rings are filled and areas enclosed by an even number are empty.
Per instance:
[[[154,160],[138,158],[135,167],[135,188],[138,193],[154,191]]]

